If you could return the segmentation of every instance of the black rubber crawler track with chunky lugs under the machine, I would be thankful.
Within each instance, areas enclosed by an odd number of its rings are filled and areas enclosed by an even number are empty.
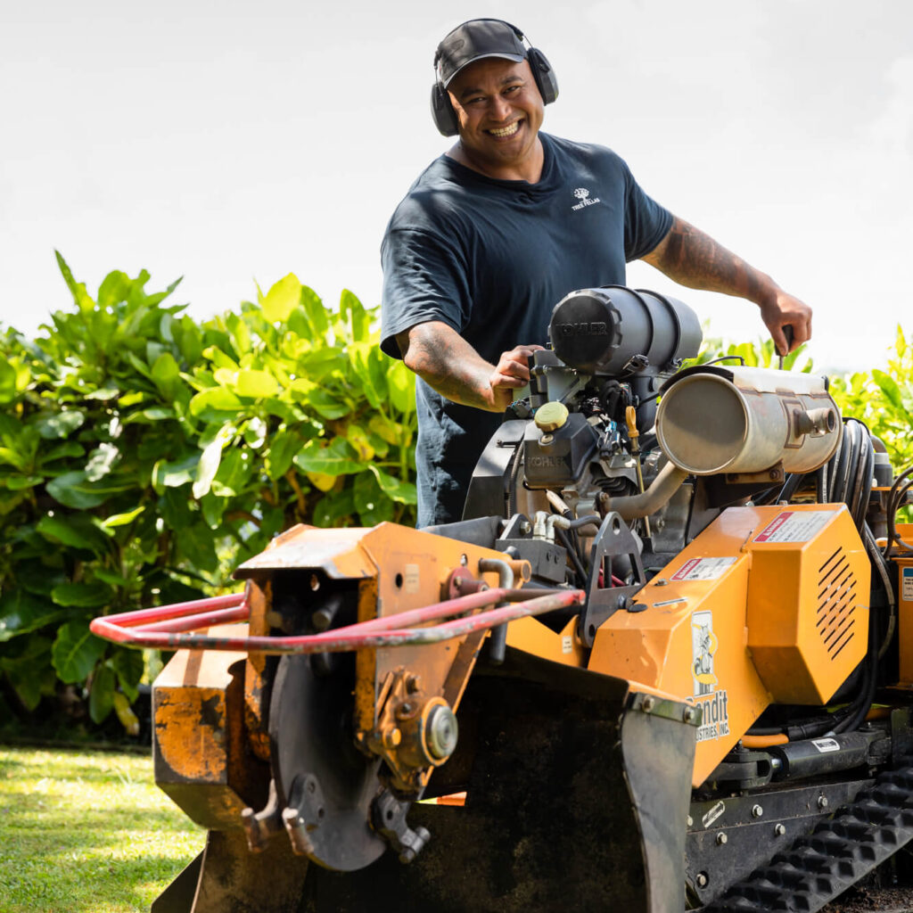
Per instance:
[[[855,802],[755,869],[704,913],[814,913],[913,839],[913,767],[881,774]]]

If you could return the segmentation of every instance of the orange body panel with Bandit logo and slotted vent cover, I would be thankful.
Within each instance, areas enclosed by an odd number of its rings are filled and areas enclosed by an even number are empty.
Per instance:
[[[769,704],[834,696],[866,653],[869,575],[843,505],[729,508],[600,627],[589,668],[694,699],[697,786]]]

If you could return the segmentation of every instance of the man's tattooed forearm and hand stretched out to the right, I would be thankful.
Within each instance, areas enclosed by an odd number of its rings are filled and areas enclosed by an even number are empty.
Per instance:
[[[712,237],[675,217],[666,237],[643,259],[689,289],[719,291],[753,301],[781,354],[812,338],[812,309],[787,294],[766,273],[737,257]],[[783,327],[792,327],[792,346]]]

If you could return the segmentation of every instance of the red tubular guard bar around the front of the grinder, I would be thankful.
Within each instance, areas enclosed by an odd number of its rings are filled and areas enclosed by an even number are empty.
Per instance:
[[[158,649],[236,650],[248,653],[346,653],[378,646],[435,644],[453,637],[496,627],[528,615],[553,612],[564,606],[580,604],[582,590],[511,590],[496,587],[458,596],[419,609],[373,618],[358,624],[333,628],[322,634],[279,637],[223,637],[186,634],[214,624],[247,621],[250,607],[243,593],[173,603],[155,609],[141,609],[96,618],[89,625],[93,634],[126,646],[151,646]],[[495,603],[519,603],[486,609],[475,615],[454,615],[485,609]],[[425,624],[450,618],[444,624]]]

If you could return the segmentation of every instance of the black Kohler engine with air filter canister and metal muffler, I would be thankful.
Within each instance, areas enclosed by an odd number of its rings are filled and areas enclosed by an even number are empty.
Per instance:
[[[840,444],[824,377],[679,370],[701,331],[676,299],[582,289],[555,306],[549,335],[478,462],[463,531],[440,529],[485,540],[487,522],[497,548],[534,556],[543,584],[587,586],[590,612],[594,589],[611,589],[614,610],[720,509],[782,498]]]

